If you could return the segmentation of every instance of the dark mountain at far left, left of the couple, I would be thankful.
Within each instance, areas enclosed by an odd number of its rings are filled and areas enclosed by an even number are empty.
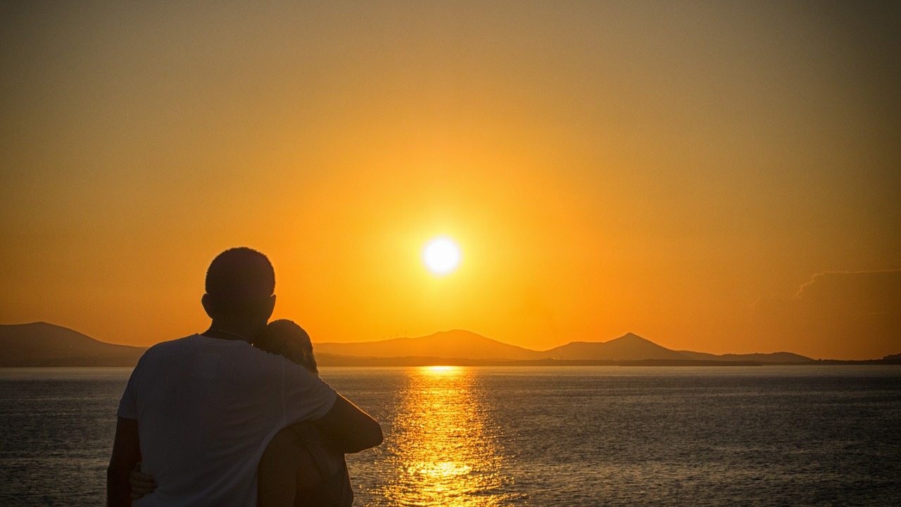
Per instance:
[[[134,366],[145,350],[46,322],[0,325],[0,366]]]

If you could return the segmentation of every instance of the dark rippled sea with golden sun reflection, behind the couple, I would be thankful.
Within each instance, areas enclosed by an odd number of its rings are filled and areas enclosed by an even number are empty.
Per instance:
[[[0,505],[104,504],[128,368],[0,369]],[[323,367],[360,506],[901,504],[901,366]]]

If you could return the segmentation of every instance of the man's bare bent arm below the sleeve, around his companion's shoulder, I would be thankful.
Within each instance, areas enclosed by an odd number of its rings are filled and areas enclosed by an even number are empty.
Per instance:
[[[325,412],[316,425],[323,436],[328,438],[342,453],[356,453],[382,443],[382,427],[376,419],[359,410],[356,405],[341,396],[335,399],[332,409]]]

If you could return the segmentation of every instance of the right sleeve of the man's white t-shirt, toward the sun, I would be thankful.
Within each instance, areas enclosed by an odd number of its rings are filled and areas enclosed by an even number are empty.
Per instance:
[[[283,364],[282,401],[287,424],[319,419],[332,410],[338,393],[329,384],[287,359]]]

